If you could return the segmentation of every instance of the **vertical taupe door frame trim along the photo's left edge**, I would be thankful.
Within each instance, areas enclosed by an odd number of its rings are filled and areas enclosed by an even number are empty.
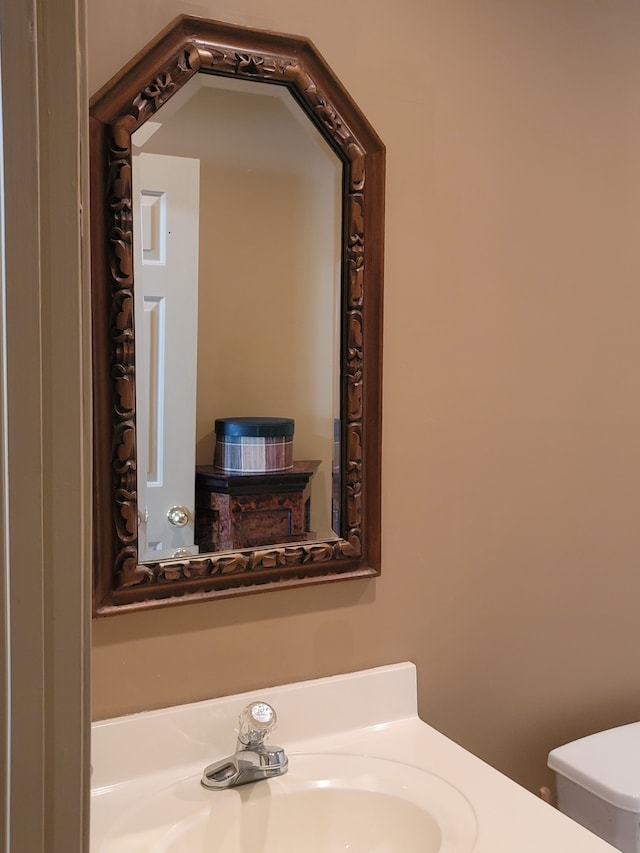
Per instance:
[[[48,7],[48,8],[47,8]],[[7,850],[88,850],[89,275],[84,0],[0,0],[0,608]],[[1,356],[0,356],[1,357]]]

